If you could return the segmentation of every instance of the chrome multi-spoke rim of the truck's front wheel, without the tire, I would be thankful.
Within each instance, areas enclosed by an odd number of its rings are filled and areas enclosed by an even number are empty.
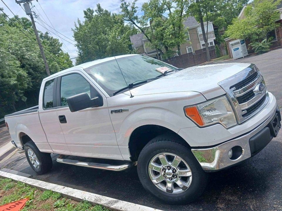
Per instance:
[[[192,171],[179,156],[172,153],[160,153],[149,163],[149,176],[157,188],[166,193],[182,193],[192,183]]]

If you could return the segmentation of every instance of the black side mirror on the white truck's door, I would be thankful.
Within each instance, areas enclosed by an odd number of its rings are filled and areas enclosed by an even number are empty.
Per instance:
[[[67,98],[68,107],[71,112],[83,110],[85,108],[93,108],[99,106],[99,97],[90,99],[89,95],[84,92],[77,95],[73,95]]]

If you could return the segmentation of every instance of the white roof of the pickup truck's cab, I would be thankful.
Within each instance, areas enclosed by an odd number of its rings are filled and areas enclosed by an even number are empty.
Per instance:
[[[122,58],[122,57],[135,56],[135,55],[139,55],[139,54],[126,54],[126,55],[120,55],[120,56],[116,56],[116,57],[107,57],[107,58],[104,58],[104,59],[97,59],[97,60],[94,60],[94,61],[91,61],[91,62],[85,62],[83,64],[78,64],[78,65],[76,65],[74,67],[70,67],[68,69],[65,69],[65,70],[62,70],[60,72],[54,73],[51,76],[48,76],[48,77],[44,78],[43,81],[46,81],[46,80],[48,80],[50,78],[53,78],[54,76],[58,76],[58,75],[60,75],[62,73],[66,73],[66,72],[72,71],[72,70],[74,70],[75,68],[78,68],[78,67],[82,68],[82,69],[85,69],[85,68],[91,67],[91,66],[93,66],[95,64],[100,64],[100,63],[103,63],[103,62],[108,62],[108,61],[113,60],[115,58],[118,59],[118,58]]]

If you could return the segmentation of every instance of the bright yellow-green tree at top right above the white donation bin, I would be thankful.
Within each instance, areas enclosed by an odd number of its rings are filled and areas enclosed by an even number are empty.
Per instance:
[[[244,18],[235,18],[228,26],[225,36],[234,39],[249,39],[251,42],[267,39],[268,32],[279,26],[275,11],[281,1],[254,0],[244,10]]]

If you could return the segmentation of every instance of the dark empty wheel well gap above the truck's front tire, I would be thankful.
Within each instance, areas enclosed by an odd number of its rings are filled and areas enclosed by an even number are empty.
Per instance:
[[[137,161],[139,154],[142,151],[142,149],[145,147],[145,145],[153,138],[159,135],[163,135],[165,133],[174,134],[180,137],[176,132],[166,127],[159,126],[159,125],[143,125],[143,126],[137,127],[132,132],[129,138],[128,147],[129,147],[129,152],[131,155],[130,159],[132,161]],[[181,139],[181,142],[189,146],[189,144],[182,137],[180,137],[180,139]]]

